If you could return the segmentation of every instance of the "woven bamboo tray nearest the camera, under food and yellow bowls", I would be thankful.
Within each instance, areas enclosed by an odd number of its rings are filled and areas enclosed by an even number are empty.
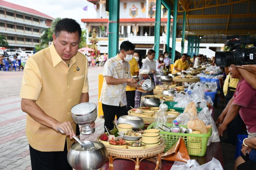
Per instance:
[[[99,141],[100,135],[97,137]],[[165,150],[165,140],[160,138],[160,144],[158,146],[147,148],[147,149],[122,149],[114,148],[111,146],[105,146],[108,150],[109,155],[120,158],[143,158],[150,157],[162,153]]]

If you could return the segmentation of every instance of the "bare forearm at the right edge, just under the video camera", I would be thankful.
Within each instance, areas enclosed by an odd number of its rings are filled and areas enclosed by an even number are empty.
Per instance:
[[[237,66],[244,79],[256,89],[256,65]]]

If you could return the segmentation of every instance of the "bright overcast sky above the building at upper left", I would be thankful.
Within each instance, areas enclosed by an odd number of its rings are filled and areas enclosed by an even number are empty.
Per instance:
[[[5,0],[26,6],[53,18],[73,18],[85,28],[82,18],[96,18],[94,4],[86,0]],[[88,11],[83,7],[88,5]]]

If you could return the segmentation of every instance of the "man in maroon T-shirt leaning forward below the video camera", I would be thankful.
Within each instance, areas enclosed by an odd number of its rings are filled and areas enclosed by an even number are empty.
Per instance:
[[[238,112],[244,121],[248,137],[256,136],[256,89],[243,78],[237,66],[230,65],[229,72],[232,78],[239,79],[236,91],[232,99],[228,102],[222,114],[218,117],[216,123],[221,124],[218,127],[219,135],[227,129],[227,125],[237,116]],[[244,146],[243,150],[249,148]]]

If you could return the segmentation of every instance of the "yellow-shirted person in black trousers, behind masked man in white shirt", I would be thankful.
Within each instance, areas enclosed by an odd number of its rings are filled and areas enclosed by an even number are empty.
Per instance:
[[[139,75],[139,66],[137,63],[137,60],[132,57],[131,61],[128,62],[130,65],[130,72],[131,72],[131,76],[134,75]],[[127,100],[127,112],[131,109],[131,107],[134,108],[135,105],[135,90],[136,87],[130,87],[130,86],[126,86],[126,100]]]

